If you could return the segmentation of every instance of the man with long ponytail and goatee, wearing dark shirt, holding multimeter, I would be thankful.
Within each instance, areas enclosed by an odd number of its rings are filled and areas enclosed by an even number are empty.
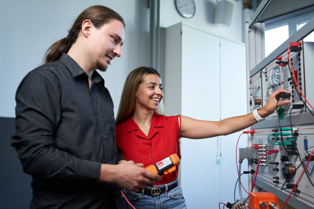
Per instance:
[[[143,164],[116,165],[113,102],[95,69],[121,56],[124,27],[110,8],[85,9],[21,81],[11,144],[33,177],[30,208],[123,207],[119,187],[139,191],[160,180]]]

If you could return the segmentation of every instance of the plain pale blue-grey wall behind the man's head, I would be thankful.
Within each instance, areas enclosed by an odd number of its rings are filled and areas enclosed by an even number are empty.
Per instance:
[[[149,64],[149,8],[143,0],[1,1],[0,117],[15,117],[15,92],[23,77],[41,65],[48,47],[68,35],[76,17],[87,7],[104,5],[126,22],[122,56],[115,58],[105,79],[118,110],[124,81],[134,68]]]

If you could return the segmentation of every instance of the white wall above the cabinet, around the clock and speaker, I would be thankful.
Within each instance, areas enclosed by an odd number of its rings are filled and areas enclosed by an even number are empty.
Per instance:
[[[175,7],[174,0],[160,0],[160,27],[169,27],[173,24],[184,22],[198,29],[211,34],[224,37],[233,41],[244,42],[243,39],[243,18],[242,1],[228,0],[233,4],[233,15],[229,28],[217,27],[214,25],[214,12],[216,0],[194,0],[195,15],[186,19],[180,16]],[[202,40],[195,40],[202,43]]]

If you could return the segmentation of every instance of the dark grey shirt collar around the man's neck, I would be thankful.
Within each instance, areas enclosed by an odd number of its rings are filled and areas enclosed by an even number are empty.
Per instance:
[[[72,57],[70,57],[68,54],[66,53],[62,53],[60,59],[59,59],[70,71],[70,73],[72,74],[73,77],[85,74],[85,71],[78,65],[78,63],[73,60]],[[105,80],[102,78],[102,76],[100,76],[100,74],[94,70],[93,71],[93,82],[98,83],[100,82],[101,86],[105,86]]]

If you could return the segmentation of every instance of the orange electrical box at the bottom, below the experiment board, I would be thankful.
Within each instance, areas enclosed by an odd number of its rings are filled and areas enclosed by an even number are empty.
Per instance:
[[[277,196],[270,192],[251,192],[249,209],[271,209],[269,207],[269,202],[273,202],[278,208]]]

